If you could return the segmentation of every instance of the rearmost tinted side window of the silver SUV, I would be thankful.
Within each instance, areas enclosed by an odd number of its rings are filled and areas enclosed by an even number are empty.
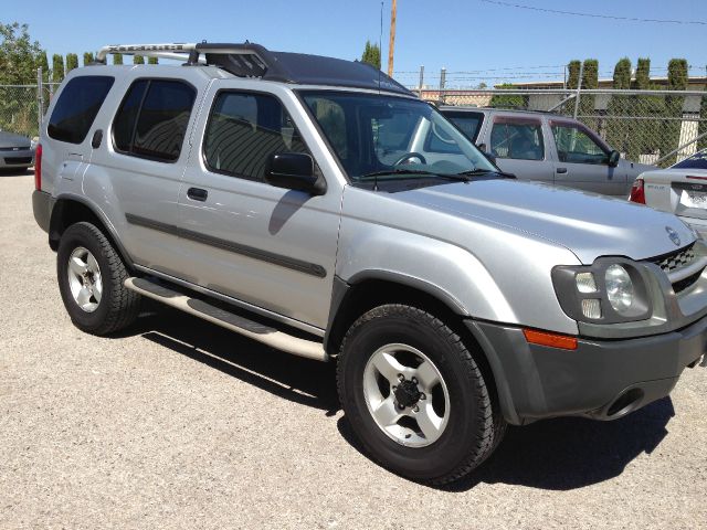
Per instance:
[[[104,75],[71,80],[52,112],[48,126],[49,136],[70,144],[84,141],[113,82],[113,77]]]

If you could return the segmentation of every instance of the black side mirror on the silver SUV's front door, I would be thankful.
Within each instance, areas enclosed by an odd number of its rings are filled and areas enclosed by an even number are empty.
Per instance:
[[[326,184],[314,174],[314,160],[306,152],[275,152],[265,167],[265,182],[277,188],[323,195]]]

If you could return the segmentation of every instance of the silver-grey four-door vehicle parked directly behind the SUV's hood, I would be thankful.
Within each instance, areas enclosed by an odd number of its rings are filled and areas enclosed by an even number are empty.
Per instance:
[[[621,158],[597,132],[567,116],[499,108],[440,110],[502,170],[523,180],[626,198],[641,172],[656,169]],[[444,145],[444,138],[430,138],[433,148]]]

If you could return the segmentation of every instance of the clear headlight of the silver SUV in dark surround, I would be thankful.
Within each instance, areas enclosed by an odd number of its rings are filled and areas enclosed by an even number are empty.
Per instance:
[[[618,324],[651,318],[650,273],[640,263],[602,257],[590,266],[558,266],[552,284],[562,310],[578,321]]]

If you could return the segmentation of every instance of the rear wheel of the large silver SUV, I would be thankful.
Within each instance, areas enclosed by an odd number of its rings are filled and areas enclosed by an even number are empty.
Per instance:
[[[125,264],[95,225],[76,223],[62,234],[56,276],[66,312],[82,331],[108,335],[137,318],[140,295],[125,288]]]

